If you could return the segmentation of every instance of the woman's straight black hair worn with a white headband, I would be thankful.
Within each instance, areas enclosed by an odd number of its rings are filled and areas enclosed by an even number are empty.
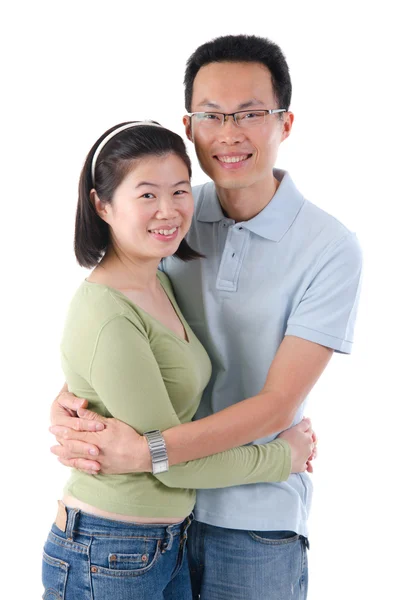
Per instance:
[[[185,163],[189,177],[192,176],[190,159],[182,138],[165,127],[142,124],[124,129],[105,144],[96,160],[94,185],[91,165],[96,149],[109,133],[126,124],[119,123],[105,131],[89,151],[81,171],[74,252],[77,262],[82,267],[97,265],[110,243],[109,225],[99,217],[90,199],[93,188],[102,202],[112,202],[116,188],[130,171],[133,161],[145,156],[176,154]],[[182,240],[175,256],[184,261],[202,257],[190,248],[186,240]]]

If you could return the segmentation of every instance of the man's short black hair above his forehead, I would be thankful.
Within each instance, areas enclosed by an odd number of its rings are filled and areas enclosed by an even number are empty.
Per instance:
[[[186,63],[185,108],[192,110],[194,79],[213,62],[256,62],[270,71],[273,92],[280,108],[289,109],[292,84],[285,56],[277,44],[256,35],[225,35],[199,46]]]

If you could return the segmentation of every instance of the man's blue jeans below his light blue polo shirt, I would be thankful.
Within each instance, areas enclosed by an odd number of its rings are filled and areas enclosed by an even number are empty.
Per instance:
[[[194,521],[188,558],[197,600],[305,600],[306,538],[293,531],[243,531]]]

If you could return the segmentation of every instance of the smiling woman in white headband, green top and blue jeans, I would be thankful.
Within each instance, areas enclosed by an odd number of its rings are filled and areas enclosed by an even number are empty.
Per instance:
[[[145,434],[153,473],[74,470],[44,548],[43,598],[191,598],[185,558],[194,488],[282,481],[306,468],[312,432],[294,428],[167,470],[160,431],[190,421],[208,356],[175,302],[161,258],[200,258],[184,236],[193,214],[182,139],[154,122],[106,132],[85,161],[75,254],[95,267],[77,290],[61,345],[69,389]],[[299,427],[299,426],[297,426]]]

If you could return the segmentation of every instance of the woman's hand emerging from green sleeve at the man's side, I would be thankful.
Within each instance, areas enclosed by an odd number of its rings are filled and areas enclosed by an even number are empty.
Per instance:
[[[317,455],[317,437],[310,419],[302,419],[298,425],[277,436],[291,446],[291,473],[313,472],[311,461]]]

